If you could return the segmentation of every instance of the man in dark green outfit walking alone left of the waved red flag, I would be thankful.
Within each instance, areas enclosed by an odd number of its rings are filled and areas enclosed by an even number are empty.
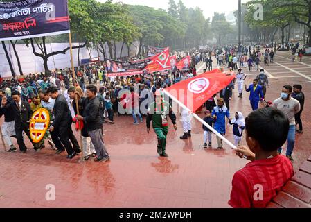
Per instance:
[[[147,133],[150,133],[150,123],[152,121],[152,127],[158,138],[158,153],[161,157],[168,157],[166,154],[166,135],[168,135],[168,116],[174,124],[175,131],[177,130],[176,115],[172,112],[170,104],[162,99],[159,90],[155,93],[155,102],[149,106],[149,112],[147,116]]]

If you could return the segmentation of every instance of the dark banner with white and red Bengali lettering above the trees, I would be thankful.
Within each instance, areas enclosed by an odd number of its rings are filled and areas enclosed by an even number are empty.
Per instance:
[[[0,41],[69,32],[67,0],[0,2]]]

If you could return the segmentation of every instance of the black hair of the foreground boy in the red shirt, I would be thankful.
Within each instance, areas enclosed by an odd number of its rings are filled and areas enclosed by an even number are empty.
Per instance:
[[[263,151],[276,151],[285,144],[290,122],[283,112],[264,108],[251,112],[245,119],[248,137],[256,139]]]

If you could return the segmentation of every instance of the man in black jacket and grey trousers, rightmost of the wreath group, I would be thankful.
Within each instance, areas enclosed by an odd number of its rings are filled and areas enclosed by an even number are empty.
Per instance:
[[[86,124],[87,133],[94,144],[97,158],[95,162],[107,162],[110,157],[103,140],[103,121],[100,118],[100,103],[96,97],[97,88],[94,85],[87,86],[87,101],[83,111],[83,117],[79,115],[78,120]]]

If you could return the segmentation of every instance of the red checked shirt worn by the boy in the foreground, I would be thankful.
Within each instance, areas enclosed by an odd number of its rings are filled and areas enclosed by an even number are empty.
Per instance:
[[[251,162],[234,174],[228,203],[233,208],[267,207],[292,176],[292,163],[283,155]],[[254,199],[259,191],[256,185],[263,186],[263,200]]]

